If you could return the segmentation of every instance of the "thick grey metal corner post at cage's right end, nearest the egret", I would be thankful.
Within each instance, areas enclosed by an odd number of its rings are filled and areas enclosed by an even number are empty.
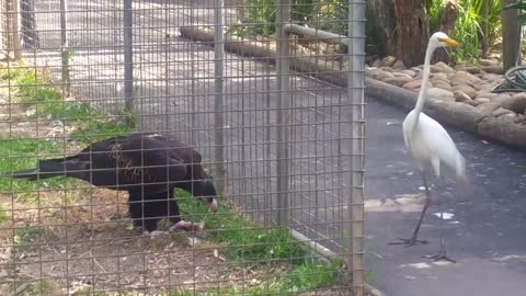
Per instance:
[[[364,295],[364,172],[365,172],[365,15],[366,1],[348,2],[348,98],[351,100],[351,254],[347,267],[352,272],[353,295]]]

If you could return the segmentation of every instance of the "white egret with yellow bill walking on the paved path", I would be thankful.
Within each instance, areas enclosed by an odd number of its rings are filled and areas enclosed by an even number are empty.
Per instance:
[[[408,114],[402,124],[405,148],[409,155],[418,161],[422,171],[422,180],[425,191],[425,202],[412,237],[409,239],[400,239],[401,242],[391,242],[390,244],[405,244],[407,247],[409,247],[415,243],[427,243],[427,241],[425,240],[418,239],[420,226],[424,218],[425,212],[431,204],[431,193],[430,187],[427,186],[427,180],[425,178],[425,169],[430,167],[433,168],[435,175],[439,178],[441,166],[444,164],[454,172],[458,182],[460,182],[461,184],[467,184],[466,161],[460,155],[460,152],[457,150],[457,147],[455,146],[451,137],[447,134],[446,129],[444,129],[444,127],[438,122],[422,112],[424,101],[427,95],[427,80],[430,78],[430,64],[433,53],[438,47],[456,47],[458,45],[458,42],[442,32],[433,34],[430,38],[430,43],[427,44],[424,69],[422,73],[422,86],[420,88],[419,99],[416,101],[415,107]],[[454,260],[447,258],[446,254],[443,220],[444,219],[441,212],[439,252],[435,255],[427,255],[426,258],[432,258],[435,261],[443,259],[455,262]]]

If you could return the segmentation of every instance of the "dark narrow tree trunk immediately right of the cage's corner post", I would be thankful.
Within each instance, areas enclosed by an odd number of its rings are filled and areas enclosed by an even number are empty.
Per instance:
[[[378,54],[381,56],[397,53],[395,8],[392,1],[368,0],[369,9],[378,22]]]

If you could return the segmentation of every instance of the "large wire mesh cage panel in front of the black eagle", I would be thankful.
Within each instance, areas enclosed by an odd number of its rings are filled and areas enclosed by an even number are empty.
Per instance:
[[[15,7],[1,295],[363,295],[365,3]]]

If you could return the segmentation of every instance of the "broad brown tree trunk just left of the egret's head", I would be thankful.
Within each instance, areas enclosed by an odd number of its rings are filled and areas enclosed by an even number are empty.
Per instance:
[[[399,26],[398,58],[407,67],[421,65],[430,37],[425,1],[395,0],[395,13]]]

